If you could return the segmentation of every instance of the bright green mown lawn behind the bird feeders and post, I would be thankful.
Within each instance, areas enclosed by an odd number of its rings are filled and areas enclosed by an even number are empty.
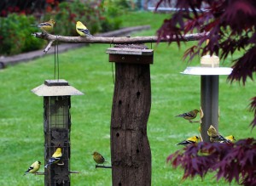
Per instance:
[[[134,33],[154,35],[166,14],[131,13],[124,25],[152,25],[152,30]],[[192,43],[154,48],[151,65],[152,106],[148,120],[148,139],[152,151],[152,185],[229,185],[206,178],[181,181],[182,169],[166,165],[166,157],[181,147],[184,138],[198,134],[197,124],[174,117],[200,106],[200,76],[183,76],[179,72],[188,65],[182,62],[183,51]],[[149,47],[150,44],[148,45]],[[71,176],[72,185],[112,185],[109,169],[95,169],[91,153],[98,150],[110,161],[110,116],[113,96],[112,64],[105,54],[108,45],[93,44],[60,54],[61,78],[66,79],[84,96],[72,97]],[[199,59],[190,65],[198,65]],[[53,78],[54,56],[0,70],[0,183],[1,185],[43,185],[43,176],[22,176],[33,161],[44,162],[43,98],[31,93],[45,79]],[[230,66],[230,59],[224,65]],[[219,130],[237,139],[253,137],[248,127],[253,113],[249,99],[255,94],[252,81],[246,87],[230,85],[226,76],[219,80]],[[41,167],[40,171],[44,169]],[[235,183],[232,185],[236,185]]]

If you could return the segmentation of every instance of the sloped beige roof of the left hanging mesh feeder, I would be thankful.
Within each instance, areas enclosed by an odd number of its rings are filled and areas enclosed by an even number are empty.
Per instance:
[[[78,89],[70,86],[66,80],[45,80],[44,84],[32,89],[38,96],[83,95]]]

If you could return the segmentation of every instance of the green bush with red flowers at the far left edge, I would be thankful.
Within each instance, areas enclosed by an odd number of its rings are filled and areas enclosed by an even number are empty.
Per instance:
[[[35,22],[33,16],[8,14],[0,18],[0,54],[20,54],[42,48],[44,41],[31,36],[38,31],[30,26]]]

